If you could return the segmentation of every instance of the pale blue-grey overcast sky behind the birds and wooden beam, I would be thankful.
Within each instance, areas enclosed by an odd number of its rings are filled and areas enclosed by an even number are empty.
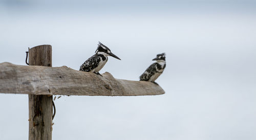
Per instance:
[[[78,70],[101,41],[121,61],[100,73],[138,80],[166,53],[164,95],[62,96],[53,139],[256,139],[256,1],[0,0],[0,17],[0,63],[50,44],[53,67]],[[28,139],[28,95],[0,111],[0,139]]]

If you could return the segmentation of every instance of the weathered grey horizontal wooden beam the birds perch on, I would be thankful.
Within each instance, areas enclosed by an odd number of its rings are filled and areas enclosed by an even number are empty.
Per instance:
[[[66,66],[22,66],[0,63],[0,93],[34,95],[138,96],[164,94],[160,86],[147,81],[103,77]]]

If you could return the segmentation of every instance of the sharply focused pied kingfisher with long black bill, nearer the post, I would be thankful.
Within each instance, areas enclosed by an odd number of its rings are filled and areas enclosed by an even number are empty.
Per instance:
[[[119,59],[108,47],[99,42],[95,54],[80,66],[79,71],[94,72],[102,76],[99,71],[108,61],[108,56]]]

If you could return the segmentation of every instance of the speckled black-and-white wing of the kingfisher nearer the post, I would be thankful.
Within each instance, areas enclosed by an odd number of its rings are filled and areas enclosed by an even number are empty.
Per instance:
[[[90,72],[95,69],[100,62],[100,57],[97,54],[94,54],[91,58],[89,58],[86,62],[84,62],[81,66],[79,71],[86,71]]]

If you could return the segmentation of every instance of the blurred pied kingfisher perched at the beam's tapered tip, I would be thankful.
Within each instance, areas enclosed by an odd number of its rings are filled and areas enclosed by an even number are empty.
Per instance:
[[[165,53],[157,54],[157,57],[153,59],[153,63],[148,67],[143,74],[140,75],[140,81],[151,81],[156,83],[155,80],[163,73],[166,66]],[[158,83],[156,83],[158,85]]]

